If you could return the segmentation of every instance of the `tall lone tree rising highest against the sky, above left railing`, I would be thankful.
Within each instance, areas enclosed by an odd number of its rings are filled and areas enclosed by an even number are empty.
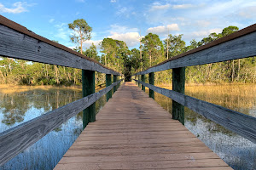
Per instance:
[[[68,24],[68,28],[74,31],[70,39],[72,42],[80,44],[80,53],[83,54],[83,42],[90,40],[92,28],[84,19],[74,20],[73,23]]]

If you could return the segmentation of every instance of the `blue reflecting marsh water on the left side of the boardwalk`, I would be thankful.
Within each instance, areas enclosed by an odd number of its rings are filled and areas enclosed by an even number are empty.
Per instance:
[[[0,133],[82,98],[75,89],[29,89],[24,92],[0,93]],[[96,112],[106,103],[106,96],[96,101]],[[53,169],[82,132],[82,113],[32,144],[5,163],[0,169]]]

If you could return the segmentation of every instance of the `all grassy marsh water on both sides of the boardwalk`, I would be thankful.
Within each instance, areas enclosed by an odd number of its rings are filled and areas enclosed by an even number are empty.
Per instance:
[[[147,88],[146,88],[147,90]],[[148,93],[148,91],[147,91]],[[194,86],[185,93],[197,99],[256,116],[256,85]],[[75,89],[29,89],[0,93],[0,132],[43,115],[82,97]],[[155,94],[155,100],[172,113],[172,99]],[[99,111],[106,96],[96,102]],[[256,144],[185,108],[185,126],[234,169],[256,169]],[[0,169],[52,169],[82,131],[82,114],[73,116]]]

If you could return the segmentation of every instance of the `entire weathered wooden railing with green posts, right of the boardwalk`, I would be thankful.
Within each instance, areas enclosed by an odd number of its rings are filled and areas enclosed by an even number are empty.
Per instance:
[[[146,71],[137,72],[136,82],[142,84],[142,89],[149,88],[149,96],[154,98],[154,92],[172,99],[172,118],[184,124],[184,106],[205,116],[213,122],[230,131],[256,143],[256,118],[237,111],[231,111],[219,105],[214,105],[184,95],[185,67],[204,65],[230,59],[241,59],[256,55],[256,24],[237,31],[230,36],[220,38],[207,45],[195,48],[184,54],[154,65]],[[172,69],[172,90],[154,86],[154,72]],[[149,84],[145,83],[145,74],[149,73]],[[141,75],[141,78],[138,76]]]

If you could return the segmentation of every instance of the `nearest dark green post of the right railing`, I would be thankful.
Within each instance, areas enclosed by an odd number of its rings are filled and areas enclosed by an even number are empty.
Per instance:
[[[172,90],[184,94],[185,92],[185,68],[172,69]],[[172,100],[172,118],[184,125],[184,106]]]

